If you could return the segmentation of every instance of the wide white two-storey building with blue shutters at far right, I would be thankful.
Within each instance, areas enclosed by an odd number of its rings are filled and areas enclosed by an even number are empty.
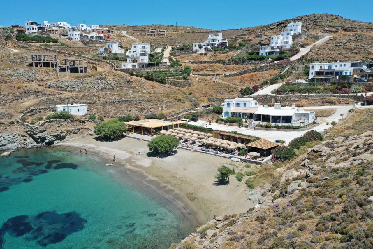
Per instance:
[[[330,82],[340,79],[344,75],[347,82],[352,82],[354,78],[359,78],[360,71],[367,66],[360,61],[337,61],[331,63],[311,63],[309,79],[314,78],[314,82]]]

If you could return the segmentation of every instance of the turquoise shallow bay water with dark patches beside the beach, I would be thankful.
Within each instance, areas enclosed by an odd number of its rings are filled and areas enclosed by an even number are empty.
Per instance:
[[[70,148],[0,159],[0,248],[168,248],[194,228],[162,196]]]

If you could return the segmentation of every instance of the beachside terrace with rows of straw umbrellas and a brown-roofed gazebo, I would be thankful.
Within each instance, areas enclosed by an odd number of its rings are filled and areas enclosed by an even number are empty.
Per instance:
[[[263,161],[267,157],[267,149],[282,145],[266,139],[259,139],[257,140],[260,141],[258,143],[256,143],[257,141],[248,144],[236,143],[221,138],[214,138],[214,135],[211,133],[181,127],[167,131],[162,130],[160,131],[160,135],[170,135],[178,138],[180,146],[184,148],[257,161]],[[239,151],[242,149],[245,149],[245,153],[243,155],[241,153],[240,155]]]

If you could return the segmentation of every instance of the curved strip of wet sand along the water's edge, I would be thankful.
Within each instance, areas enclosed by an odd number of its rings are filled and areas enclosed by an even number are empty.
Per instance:
[[[81,149],[82,145],[84,144],[69,141],[56,144],[55,146],[73,147]],[[87,146],[88,153],[90,155],[92,154],[92,151],[94,151],[95,153],[97,153],[94,155],[94,157],[100,157],[101,159],[104,158],[109,161],[112,160],[112,158],[107,155],[108,149],[106,147],[98,147],[94,145],[93,148],[92,145],[84,146]],[[127,151],[125,152],[128,153]],[[122,160],[118,156],[116,158]],[[124,159],[123,162],[116,161],[115,163],[117,163],[117,165],[122,165],[122,169],[125,170],[126,173],[129,173],[129,175],[134,177],[137,181],[142,182],[147,187],[150,187],[152,191],[167,199],[169,204],[178,209],[179,212],[193,227],[197,227],[198,225],[206,223],[207,216],[204,212],[202,212],[202,210],[192,205],[192,203],[187,198],[182,198],[182,194],[174,188],[172,188],[171,186],[147,174],[144,170],[131,166],[128,162],[126,162],[127,159],[128,158]]]

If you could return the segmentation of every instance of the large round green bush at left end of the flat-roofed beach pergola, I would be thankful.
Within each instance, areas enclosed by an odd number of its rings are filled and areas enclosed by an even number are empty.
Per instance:
[[[103,139],[119,139],[126,132],[127,128],[123,122],[117,119],[112,119],[101,124],[97,124],[94,128],[94,133]]]

